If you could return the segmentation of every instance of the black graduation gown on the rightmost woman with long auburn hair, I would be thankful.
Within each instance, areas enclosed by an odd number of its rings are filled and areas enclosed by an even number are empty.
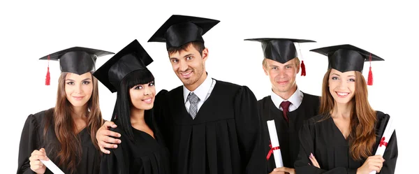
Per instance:
[[[366,159],[355,161],[349,154],[348,141],[344,138],[335,122],[330,117],[322,122],[324,115],[318,115],[304,122],[300,131],[300,154],[295,161],[295,171],[297,173],[356,173],[356,170],[364,164]],[[385,125],[390,118],[389,115],[377,111],[376,122],[376,143],[374,144],[373,154],[383,136]],[[321,168],[310,166],[309,154],[313,152]],[[393,132],[388,146],[385,148],[383,158],[383,168],[381,173],[394,173],[397,161],[397,138]],[[310,163],[311,164],[311,163]]]

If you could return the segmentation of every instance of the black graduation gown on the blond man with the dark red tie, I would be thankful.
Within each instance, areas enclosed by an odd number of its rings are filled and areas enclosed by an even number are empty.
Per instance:
[[[306,93],[303,93],[303,95],[302,103],[297,110],[287,113],[289,123],[286,122],[282,110],[279,110],[274,105],[271,96],[265,96],[265,98],[258,101],[259,115],[263,120],[265,157],[270,151],[270,136],[266,122],[274,119],[282,161],[284,166],[288,168],[294,168],[294,162],[297,159],[300,147],[298,131],[300,131],[303,121],[318,115],[320,98]],[[276,168],[274,155],[271,154],[270,159],[267,160],[267,173],[271,173],[274,168]]]

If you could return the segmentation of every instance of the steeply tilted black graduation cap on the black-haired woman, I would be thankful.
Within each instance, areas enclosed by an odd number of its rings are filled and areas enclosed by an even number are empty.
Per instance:
[[[152,57],[135,39],[106,61],[93,75],[113,93],[117,92],[120,82],[126,75],[133,71],[147,69],[152,62]]]

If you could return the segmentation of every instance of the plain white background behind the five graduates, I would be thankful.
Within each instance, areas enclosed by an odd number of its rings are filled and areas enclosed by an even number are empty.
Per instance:
[[[116,2],[116,1],[115,1]],[[209,48],[212,78],[247,85],[258,99],[270,94],[258,42],[245,38],[302,38],[307,76],[297,77],[303,92],[321,95],[327,58],[314,48],[352,44],[385,61],[373,62],[373,108],[395,119],[399,158],[396,173],[416,173],[418,87],[418,7],[404,1],[4,1],[0,4],[1,133],[0,173],[15,173],[22,126],[27,116],[55,103],[59,63],[50,62],[51,85],[45,86],[47,61],[39,58],[73,46],[118,52],[138,39],[154,62],[149,69],[156,89],[182,85],[173,73],[165,43],[147,43],[172,14],[221,20],[203,36]],[[96,67],[111,56],[100,57]],[[369,64],[365,64],[367,77]],[[116,94],[99,86],[103,117],[110,119]]]

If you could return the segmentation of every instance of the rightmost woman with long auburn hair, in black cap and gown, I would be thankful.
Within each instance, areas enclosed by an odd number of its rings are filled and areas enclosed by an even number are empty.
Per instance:
[[[396,133],[383,157],[374,155],[390,116],[369,105],[362,75],[365,61],[383,59],[353,45],[311,51],[328,56],[329,68],[323,78],[319,115],[304,122],[300,130],[296,173],[394,173]]]

